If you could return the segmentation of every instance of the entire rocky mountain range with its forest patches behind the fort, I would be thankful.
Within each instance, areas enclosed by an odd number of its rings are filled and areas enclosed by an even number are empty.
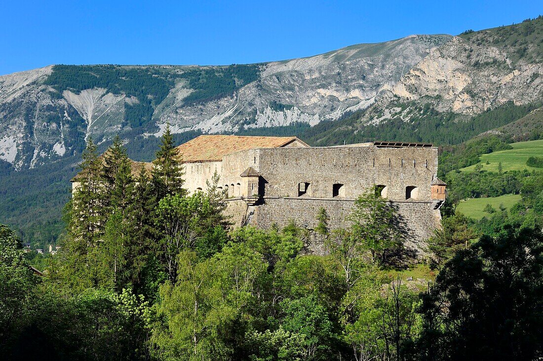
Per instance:
[[[34,168],[79,154],[89,136],[100,144],[119,134],[130,149],[166,123],[179,133],[235,133],[358,111],[357,124],[379,125],[420,116],[406,104],[468,121],[507,102],[541,102],[541,31],[538,18],[247,66],[48,66],[4,75],[0,162]]]

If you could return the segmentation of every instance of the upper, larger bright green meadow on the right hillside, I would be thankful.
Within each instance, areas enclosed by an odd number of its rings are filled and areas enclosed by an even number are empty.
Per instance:
[[[483,154],[479,156],[481,161],[477,164],[483,166],[482,170],[488,170],[489,172],[497,172],[498,164],[502,163],[503,172],[507,170],[521,170],[521,169],[539,169],[543,168],[533,168],[527,167],[526,161],[528,157],[531,156],[543,156],[543,140],[539,141],[529,141],[529,142],[519,142],[512,143],[511,146],[513,149],[495,151],[489,154]],[[487,162],[489,164],[487,164]],[[460,169],[462,172],[473,172],[475,166],[472,166]]]

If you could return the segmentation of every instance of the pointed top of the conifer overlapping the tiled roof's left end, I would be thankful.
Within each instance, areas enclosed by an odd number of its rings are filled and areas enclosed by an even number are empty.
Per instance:
[[[156,152],[156,159],[153,161],[152,178],[157,200],[167,194],[186,195],[186,190],[182,188],[183,174],[182,163],[175,149],[169,124],[167,124],[160,149]]]

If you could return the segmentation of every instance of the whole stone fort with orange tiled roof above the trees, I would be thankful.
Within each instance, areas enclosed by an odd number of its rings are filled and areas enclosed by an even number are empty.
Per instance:
[[[397,209],[409,231],[406,245],[415,251],[424,251],[421,243],[440,226],[446,184],[437,178],[433,144],[310,147],[296,137],[201,135],[176,149],[190,193],[205,191],[217,172],[235,226],[267,229],[293,220],[312,230],[320,207],[331,229],[346,226],[358,195],[373,187]]]

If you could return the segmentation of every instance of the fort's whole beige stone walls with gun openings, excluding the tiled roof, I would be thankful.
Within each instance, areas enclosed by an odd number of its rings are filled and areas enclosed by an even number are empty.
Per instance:
[[[217,169],[220,186],[228,189],[226,213],[232,216],[234,225],[264,229],[294,220],[311,230],[317,224],[315,216],[320,207],[329,214],[332,229],[348,226],[345,218],[358,195],[381,185],[386,187],[382,194],[407,226],[406,245],[420,254],[424,253],[425,240],[440,226],[440,212],[434,209],[435,194],[432,197],[431,193],[437,162],[437,148],[378,148],[372,143],[251,149],[226,155],[222,162],[187,163],[185,178],[191,191],[205,189],[205,180],[211,179]],[[261,174],[256,205],[241,198],[244,182],[240,175],[249,167]],[[302,182],[307,192],[299,196]]]

